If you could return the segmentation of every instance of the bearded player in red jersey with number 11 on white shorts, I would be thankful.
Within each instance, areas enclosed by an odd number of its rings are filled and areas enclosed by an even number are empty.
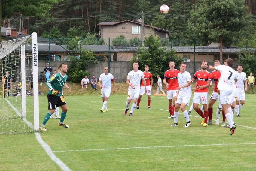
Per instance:
[[[197,86],[192,102],[194,110],[202,117],[201,125],[203,125],[203,127],[208,126],[208,87],[210,86],[212,80],[212,74],[206,70],[207,66],[207,62],[203,61],[201,63],[201,70],[197,71],[190,81],[190,83],[192,83],[197,79]],[[201,101],[203,105],[203,112],[200,108],[198,108],[198,105],[201,103]]]

